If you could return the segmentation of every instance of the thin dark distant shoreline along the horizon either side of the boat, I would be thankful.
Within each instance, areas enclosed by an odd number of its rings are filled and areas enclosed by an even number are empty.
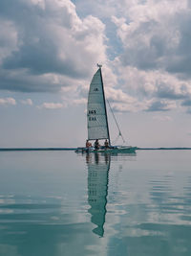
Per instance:
[[[76,148],[0,148],[0,151],[75,151]],[[191,148],[138,148],[138,151],[190,151]]]

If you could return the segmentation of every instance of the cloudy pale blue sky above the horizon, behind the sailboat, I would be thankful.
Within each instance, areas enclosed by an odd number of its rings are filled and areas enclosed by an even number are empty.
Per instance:
[[[83,146],[96,63],[127,144],[191,147],[190,24],[191,0],[1,0],[0,148]]]

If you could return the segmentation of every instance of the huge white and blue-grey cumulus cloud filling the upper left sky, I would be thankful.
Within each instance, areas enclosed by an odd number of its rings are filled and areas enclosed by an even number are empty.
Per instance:
[[[70,0],[3,0],[0,14],[1,89],[59,90],[60,83],[45,77],[79,81],[106,61],[104,24],[91,15],[80,19]]]

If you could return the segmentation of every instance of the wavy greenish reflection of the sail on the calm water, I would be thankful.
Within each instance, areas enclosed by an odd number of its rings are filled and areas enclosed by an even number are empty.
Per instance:
[[[93,159],[92,159],[93,157]],[[103,236],[108,195],[108,173],[110,169],[110,155],[87,155],[88,165],[88,202],[91,208],[91,221],[96,224],[94,233]]]

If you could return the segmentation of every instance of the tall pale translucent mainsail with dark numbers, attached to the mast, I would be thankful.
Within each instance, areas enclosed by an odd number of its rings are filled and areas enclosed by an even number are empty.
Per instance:
[[[109,139],[110,143],[101,65],[98,65],[98,67],[91,81],[88,95],[88,139]]]

